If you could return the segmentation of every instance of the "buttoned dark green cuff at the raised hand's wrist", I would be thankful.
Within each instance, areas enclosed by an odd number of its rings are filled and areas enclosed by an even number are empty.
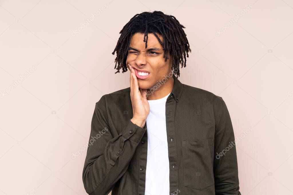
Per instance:
[[[136,143],[139,143],[139,141],[144,136],[145,131],[147,128],[144,125],[144,128],[134,124],[130,119],[128,120],[126,126],[122,130],[122,137],[125,139],[130,139]]]

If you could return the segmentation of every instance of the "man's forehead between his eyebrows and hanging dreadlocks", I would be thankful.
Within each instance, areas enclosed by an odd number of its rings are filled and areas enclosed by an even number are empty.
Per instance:
[[[159,34],[157,34],[157,35],[161,39],[161,42],[163,42],[163,37]],[[144,42],[144,34],[137,32],[132,35],[129,47],[133,47],[133,48],[136,48],[139,50],[144,50],[144,49],[148,49],[151,47],[157,47],[160,49],[163,48],[161,46],[159,40],[157,39],[157,37],[153,33],[149,33],[148,39],[147,39],[147,36],[145,37],[145,39],[147,40],[147,48],[145,48],[146,43]]]

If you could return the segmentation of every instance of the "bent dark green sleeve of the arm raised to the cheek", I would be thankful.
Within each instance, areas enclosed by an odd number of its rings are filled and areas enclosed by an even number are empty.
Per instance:
[[[91,121],[86,159],[82,172],[84,188],[91,195],[107,195],[126,172],[146,127],[128,120],[113,137],[105,106],[97,102]]]

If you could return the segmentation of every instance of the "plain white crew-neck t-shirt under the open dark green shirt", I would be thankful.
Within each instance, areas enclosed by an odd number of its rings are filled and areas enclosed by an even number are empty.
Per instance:
[[[147,168],[145,195],[169,195],[169,156],[166,131],[166,101],[168,96],[148,100],[147,116]]]

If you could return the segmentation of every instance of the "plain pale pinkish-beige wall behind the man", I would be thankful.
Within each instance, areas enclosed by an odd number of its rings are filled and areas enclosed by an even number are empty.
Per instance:
[[[100,97],[129,86],[129,72],[114,74],[120,30],[154,10],[186,27],[192,53],[179,80],[228,106],[241,194],[293,194],[292,0],[2,0],[0,195],[86,194],[86,151],[73,153]]]

